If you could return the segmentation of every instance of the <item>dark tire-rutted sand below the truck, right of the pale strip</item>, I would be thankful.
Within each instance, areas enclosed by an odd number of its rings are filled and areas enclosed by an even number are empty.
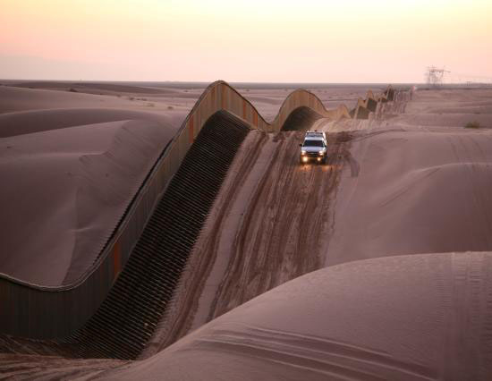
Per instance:
[[[280,132],[236,233],[228,271],[209,320],[279,284],[322,267],[329,231],[330,193],[350,139],[329,139],[328,165],[299,165],[301,132]],[[274,140],[274,141],[275,141]]]

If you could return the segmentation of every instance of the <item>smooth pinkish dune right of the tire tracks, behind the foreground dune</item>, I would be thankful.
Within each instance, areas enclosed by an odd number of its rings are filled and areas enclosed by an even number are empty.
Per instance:
[[[345,172],[337,190],[327,265],[492,250],[492,130],[463,128],[475,116],[492,125],[492,114],[456,113],[468,103],[428,114],[459,99],[456,91],[428,93],[418,92],[406,114],[354,134],[351,153],[360,171]],[[467,99],[470,90],[459,94]]]

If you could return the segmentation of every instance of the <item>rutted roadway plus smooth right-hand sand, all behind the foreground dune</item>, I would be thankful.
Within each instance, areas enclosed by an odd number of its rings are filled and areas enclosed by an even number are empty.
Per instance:
[[[492,250],[490,105],[490,90],[422,90],[380,121],[320,119],[313,129],[331,138],[325,168],[297,165],[297,144],[289,146],[301,140],[295,133],[250,133],[195,248],[174,313],[144,357],[316,267]],[[477,116],[482,128],[463,128]],[[269,183],[278,187],[269,190]]]

